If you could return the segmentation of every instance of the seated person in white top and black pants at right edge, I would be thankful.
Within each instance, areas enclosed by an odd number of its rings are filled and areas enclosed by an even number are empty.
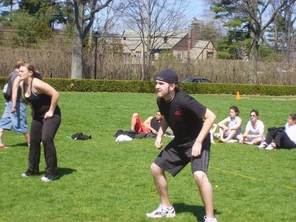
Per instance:
[[[268,129],[265,141],[257,148],[277,149],[296,148],[296,113],[290,114],[285,127],[271,127]],[[273,143],[271,143],[273,140]]]

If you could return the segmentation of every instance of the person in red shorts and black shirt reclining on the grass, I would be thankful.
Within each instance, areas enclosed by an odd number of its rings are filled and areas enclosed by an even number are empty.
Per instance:
[[[153,133],[157,134],[160,123],[162,120],[162,115],[160,111],[157,110],[155,117],[148,117],[144,123],[142,123],[141,117],[138,113],[134,113],[131,118],[131,131],[139,133]]]

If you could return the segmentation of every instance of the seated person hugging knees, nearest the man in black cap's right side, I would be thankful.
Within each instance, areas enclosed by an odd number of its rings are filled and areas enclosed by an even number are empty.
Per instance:
[[[229,117],[218,123],[220,127],[219,141],[222,143],[230,143],[233,140],[238,140],[237,136],[242,132],[242,119],[239,117],[240,111],[238,107],[231,106],[229,114]]]

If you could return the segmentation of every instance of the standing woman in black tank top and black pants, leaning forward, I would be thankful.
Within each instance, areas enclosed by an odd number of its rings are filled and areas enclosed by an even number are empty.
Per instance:
[[[54,136],[61,123],[61,112],[57,105],[59,94],[49,84],[36,78],[34,66],[23,64],[20,67],[20,86],[24,90],[25,100],[33,108],[33,120],[30,131],[29,167],[23,177],[39,174],[40,144],[44,147],[46,172],[42,181],[58,178]]]

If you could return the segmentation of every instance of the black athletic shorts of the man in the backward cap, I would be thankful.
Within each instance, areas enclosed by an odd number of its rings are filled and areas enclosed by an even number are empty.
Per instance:
[[[174,140],[164,148],[155,159],[154,163],[168,171],[173,176],[177,175],[189,162],[192,173],[203,171],[207,173],[210,160],[210,140],[202,143],[200,156],[192,157],[192,147],[195,141],[178,145]]]

